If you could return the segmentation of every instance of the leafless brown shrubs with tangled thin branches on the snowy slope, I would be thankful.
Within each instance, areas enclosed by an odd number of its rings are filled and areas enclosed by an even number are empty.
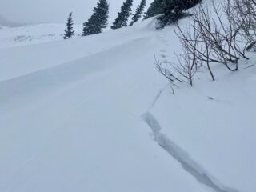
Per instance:
[[[210,0],[213,11],[199,4],[190,18],[190,26],[178,22],[174,31],[182,42],[184,54],[177,55],[178,63],[156,60],[158,71],[174,82],[193,86],[194,74],[207,66],[215,81],[211,63],[222,64],[230,71],[238,70],[238,61],[246,58],[246,50],[256,45],[256,0]]]

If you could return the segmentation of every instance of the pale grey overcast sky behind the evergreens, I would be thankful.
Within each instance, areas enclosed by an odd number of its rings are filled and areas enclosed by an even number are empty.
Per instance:
[[[122,2],[109,0],[110,22],[113,22]],[[134,0],[134,8],[141,0]],[[153,0],[147,0],[147,4]],[[0,15],[11,22],[66,22],[70,11],[74,12],[74,22],[82,23],[90,17],[98,0],[0,0]]]

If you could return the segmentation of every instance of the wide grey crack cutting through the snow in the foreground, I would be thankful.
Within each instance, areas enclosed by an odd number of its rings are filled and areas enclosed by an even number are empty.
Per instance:
[[[150,112],[142,114],[142,119],[150,126],[154,134],[154,140],[158,142],[158,145],[176,159],[182,165],[183,169],[191,174],[198,182],[209,186],[216,192],[238,192],[238,190],[223,186],[221,183],[217,182],[202,166],[190,158],[190,155],[187,154],[185,150],[182,150],[180,146],[167,138],[165,134],[162,134],[162,128],[158,120],[154,118]]]

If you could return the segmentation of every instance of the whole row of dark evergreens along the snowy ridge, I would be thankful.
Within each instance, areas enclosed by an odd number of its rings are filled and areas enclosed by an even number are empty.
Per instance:
[[[134,14],[132,14],[133,0],[126,0],[123,2],[118,17],[114,20],[111,29],[116,30],[123,26],[133,26],[135,22],[138,22],[142,15],[143,18],[150,18],[159,15],[158,28],[163,28],[166,25],[178,21],[179,18],[185,17],[187,14],[185,10],[195,6],[202,0],[154,0],[150,4],[149,9],[144,13],[146,7],[146,0],[142,0],[138,5]],[[87,22],[83,23],[82,36],[90,34],[99,34],[108,26],[109,18],[109,3],[107,0],[99,0],[97,6],[94,7],[93,14],[90,16]],[[128,23],[130,16],[132,15],[130,24]],[[64,39],[71,38],[74,35],[73,18],[70,13],[64,34]]]

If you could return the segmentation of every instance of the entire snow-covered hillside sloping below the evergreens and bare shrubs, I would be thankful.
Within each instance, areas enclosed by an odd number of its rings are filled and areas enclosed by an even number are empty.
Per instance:
[[[256,55],[172,94],[154,57],[182,49],[154,22],[66,41],[54,24],[0,30],[1,192],[255,192]]]

